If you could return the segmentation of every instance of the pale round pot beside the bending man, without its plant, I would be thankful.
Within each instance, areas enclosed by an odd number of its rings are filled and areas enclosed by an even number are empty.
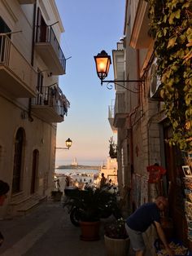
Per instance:
[[[107,256],[127,256],[129,253],[130,240],[116,239],[104,236]]]

